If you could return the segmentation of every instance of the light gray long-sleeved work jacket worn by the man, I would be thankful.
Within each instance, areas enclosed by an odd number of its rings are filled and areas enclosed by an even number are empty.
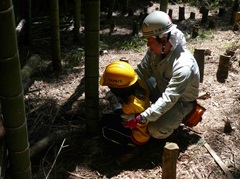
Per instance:
[[[148,49],[136,69],[141,79],[154,77],[161,97],[141,113],[148,121],[156,121],[178,102],[192,102],[199,93],[199,68],[191,52],[181,45],[161,60]]]

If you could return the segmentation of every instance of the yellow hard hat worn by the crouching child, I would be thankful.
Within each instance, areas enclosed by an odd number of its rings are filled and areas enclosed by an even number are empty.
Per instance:
[[[110,63],[100,79],[100,85],[112,88],[126,88],[138,79],[133,67],[126,61],[119,60]]]

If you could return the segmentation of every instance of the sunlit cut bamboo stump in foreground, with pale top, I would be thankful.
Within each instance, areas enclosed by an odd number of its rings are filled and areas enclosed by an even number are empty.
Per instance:
[[[176,164],[179,147],[176,143],[166,143],[162,158],[162,179],[176,179]]]

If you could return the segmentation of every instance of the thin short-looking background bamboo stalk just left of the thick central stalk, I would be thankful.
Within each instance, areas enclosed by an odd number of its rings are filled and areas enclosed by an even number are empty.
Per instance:
[[[74,41],[79,41],[81,0],[74,0]]]

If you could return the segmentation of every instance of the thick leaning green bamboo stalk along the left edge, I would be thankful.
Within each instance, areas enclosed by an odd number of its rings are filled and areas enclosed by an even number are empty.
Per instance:
[[[11,0],[0,1],[0,101],[12,178],[30,179],[31,162]]]

